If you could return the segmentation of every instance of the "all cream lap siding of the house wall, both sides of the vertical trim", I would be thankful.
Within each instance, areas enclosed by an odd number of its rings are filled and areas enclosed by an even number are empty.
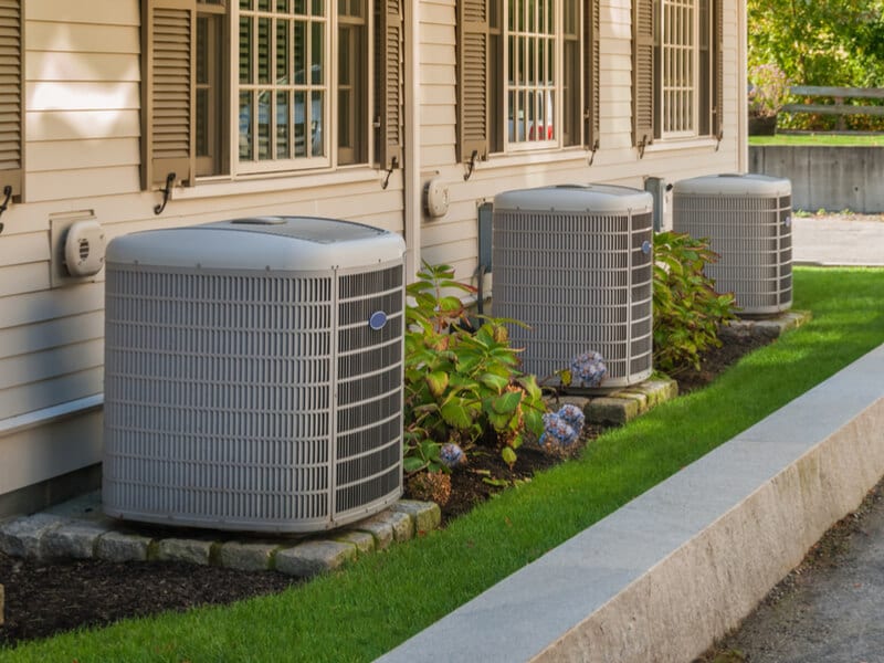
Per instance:
[[[134,231],[255,214],[303,214],[362,221],[402,232],[403,182],[448,185],[445,215],[421,221],[421,257],[453,264],[474,281],[477,206],[504,190],[571,182],[642,187],[738,171],[745,138],[741,44],[745,9],[725,0],[726,116],[718,150],[706,145],[631,145],[631,3],[602,0],[600,150],[592,166],[581,148],[494,156],[466,169],[455,161],[455,1],[415,0],[420,88],[418,177],[371,168],[176,189],[157,217],[158,192],[139,190],[138,0],[28,0],[25,25],[24,200],[3,214],[0,235],[0,516],[4,496],[101,460],[103,276],[53,286],[53,229],[94,217],[108,240]],[[739,19],[739,20],[738,20]],[[407,49],[407,52],[410,52]],[[408,154],[408,152],[407,152]],[[406,162],[407,168],[414,164]],[[414,192],[409,192],[412,200]],[[412,221],[409,219],[409,222]],[[77,414],[77,408],[92,407]],[[73,412],[67,412],[73,410]],[[51,415],[57,414],[56,418]],[[7,501],[7,504],[9,501]]]

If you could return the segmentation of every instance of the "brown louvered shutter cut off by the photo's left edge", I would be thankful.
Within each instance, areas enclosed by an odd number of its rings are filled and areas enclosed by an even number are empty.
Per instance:
[[[12,187],[13,196],[22,185],[23,53],[21,2],[0,0],[0,192]]]

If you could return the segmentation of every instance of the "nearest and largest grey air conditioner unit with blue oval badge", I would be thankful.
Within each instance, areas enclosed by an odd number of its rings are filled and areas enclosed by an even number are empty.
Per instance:
[[[302,533],[402,490],[404,243],[328,219],[107,250],[104,511]]]

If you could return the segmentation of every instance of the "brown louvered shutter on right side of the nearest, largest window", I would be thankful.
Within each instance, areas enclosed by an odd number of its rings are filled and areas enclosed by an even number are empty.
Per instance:
[[[377,160],[389,170],[402,166],[403,127],[403,69],[404,69],[404,20],[402,0],[378,0],[379,39],[376,49],[378,88],[377,107]]]

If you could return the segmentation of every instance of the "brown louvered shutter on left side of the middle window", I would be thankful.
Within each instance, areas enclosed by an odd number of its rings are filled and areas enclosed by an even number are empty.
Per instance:
[[[488,3],[457,2],[457,159],[488,156]]]

